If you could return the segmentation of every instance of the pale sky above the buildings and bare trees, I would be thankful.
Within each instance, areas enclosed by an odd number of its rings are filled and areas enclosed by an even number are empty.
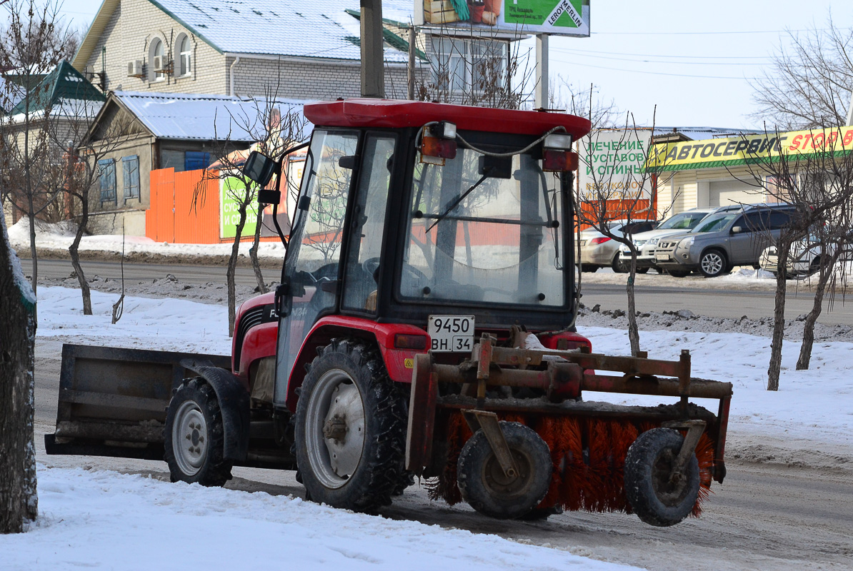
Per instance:
[[[65,0],[88,26],[98,0]],[[551,76],[595,86],[638,124],[761,128],[751,78],[790,43],[787,30],[853,28],[850,0],[590,0],[590,37],[551,37]],[[531,44],[532,45],[532,44]],[[552,83],[554,87],[554,84]]]

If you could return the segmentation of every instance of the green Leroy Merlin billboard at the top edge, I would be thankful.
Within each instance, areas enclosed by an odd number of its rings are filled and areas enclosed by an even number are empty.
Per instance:
[[[415,24],[589,36],[589,0],[415,0]]]

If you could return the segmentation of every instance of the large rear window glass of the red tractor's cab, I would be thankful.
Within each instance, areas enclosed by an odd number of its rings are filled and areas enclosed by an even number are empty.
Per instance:
[[[415,164],[400,294],[562,306],[560,178],[530,154]]]

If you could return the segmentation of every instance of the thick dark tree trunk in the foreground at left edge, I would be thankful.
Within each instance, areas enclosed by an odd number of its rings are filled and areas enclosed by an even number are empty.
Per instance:
[[[33,435],[36,297],[24,280],[0,216],[0,534],[38,516]]]

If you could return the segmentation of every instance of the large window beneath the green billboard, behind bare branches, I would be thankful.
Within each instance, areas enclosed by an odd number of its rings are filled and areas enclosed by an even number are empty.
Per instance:
[[[509,44],[498,40],[433,37],[432,77],[438,89],[483,91],[506,81]]]

